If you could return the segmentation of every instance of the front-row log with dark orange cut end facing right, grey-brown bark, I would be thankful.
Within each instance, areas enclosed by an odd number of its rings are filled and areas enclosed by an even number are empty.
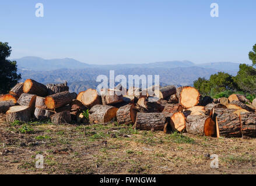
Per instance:
[[[216,124],[209,116],[187,116],[186,131],[196,135],[215,136]]]

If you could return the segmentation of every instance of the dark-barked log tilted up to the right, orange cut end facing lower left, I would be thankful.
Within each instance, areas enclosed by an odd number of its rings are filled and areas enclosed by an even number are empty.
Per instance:
[[[45,105],[47,106],[47,109],[50,110],[54,110],[61,106],[68,105],[71,102],[72,98],[68,91],[59,92],[57,94],[47,96],[44,101]]]

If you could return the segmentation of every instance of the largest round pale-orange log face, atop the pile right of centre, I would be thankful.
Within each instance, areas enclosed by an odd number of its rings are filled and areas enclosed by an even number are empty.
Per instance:
[[[191,108],[198,105],[200,94],[198,90],[193,87],[185,87],[180,93],[180,104],[184,108]]]

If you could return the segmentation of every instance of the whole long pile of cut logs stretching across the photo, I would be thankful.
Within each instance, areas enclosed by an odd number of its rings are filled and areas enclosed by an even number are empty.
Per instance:
[[[115,89],[70,93],[67,83],[43,85],[28,79],[0,96],[6,121],[48,120],[62,123],[133,125],[139,130],[179,131],[211,137],[256,137],[256,99],[245,96],[202,97],[193,87]],[[153,94],[152,94],[153,92]],[[153,95],[153,96],[151,96]],[[83,112],[89,110],[86,117]]]

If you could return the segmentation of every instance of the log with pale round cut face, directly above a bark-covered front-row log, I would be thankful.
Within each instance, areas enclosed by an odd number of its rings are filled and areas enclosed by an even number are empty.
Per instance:
[[[92,108],[94,105],[101,104],[101,97],[98,94],[97,90],[94,90],[92,88],[89,88],[85,92],[83,92],[81,101],[83,105],[85,105],[87,108]]]

